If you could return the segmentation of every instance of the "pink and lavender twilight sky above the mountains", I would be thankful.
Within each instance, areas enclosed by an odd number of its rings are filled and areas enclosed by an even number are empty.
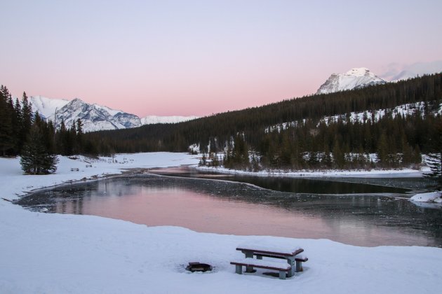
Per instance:
[[[442,1],[0,0],[0,84],[138,116],[316,92],[331,73],[442,64]],[[430,70],[430,69],[429,69]]]

